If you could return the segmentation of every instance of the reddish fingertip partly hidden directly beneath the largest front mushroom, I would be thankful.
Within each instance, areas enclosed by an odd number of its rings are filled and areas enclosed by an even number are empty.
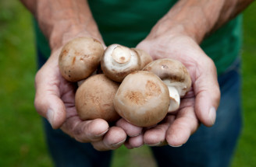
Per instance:
[[[116,122],[116,126],[121,127],[129,137],[136,137],[142,132],[142,127],[137,127],[133,124],[130,124],[123,118]]]

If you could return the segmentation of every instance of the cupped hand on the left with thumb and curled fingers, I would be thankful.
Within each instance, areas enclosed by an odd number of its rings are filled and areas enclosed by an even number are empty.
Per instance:
[[[125,130],[110,127],[102,119],[82,121],[78,117],[75,107],[76,84],[67,82],[59,72],[60,50],[54,50],[37,72],[34,100],[37,112],[47,118],[53,128],[60,127],[76,141],[91,142],[100,151],[119,148],[126,141]],[[135,133],[140,132],[135,130]]]

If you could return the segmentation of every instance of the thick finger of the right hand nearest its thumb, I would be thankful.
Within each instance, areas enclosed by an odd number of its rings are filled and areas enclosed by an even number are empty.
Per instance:
[[[187,142],[198,126],[194,108],[192,106],[185,107],[179,110],[176,119],[166,131],[166,141],[172,147],[179,147]]]

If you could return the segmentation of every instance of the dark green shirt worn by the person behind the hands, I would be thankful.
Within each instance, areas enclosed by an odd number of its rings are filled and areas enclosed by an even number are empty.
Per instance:
[[[135,47],[176,0],[89,0],[91,12],[98,24],[105,44]],[[239,55],[242,17],[229,21],[201,43],[201,47],[215,62],[218,74],[229,67]],[[48,42],[35,23],[37,46],[45,57],[50,55]]]

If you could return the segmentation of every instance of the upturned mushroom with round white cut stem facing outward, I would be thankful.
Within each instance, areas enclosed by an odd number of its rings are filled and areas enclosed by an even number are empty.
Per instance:
[[[140,57],[129,47],[112,44],[105,49],[101,69],[108,78],[122,82],[126,75],[140,70]]]

